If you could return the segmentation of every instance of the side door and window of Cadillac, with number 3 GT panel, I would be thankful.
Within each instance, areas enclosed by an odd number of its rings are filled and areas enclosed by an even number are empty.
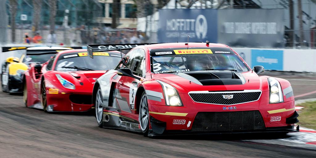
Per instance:
[[[145,51],[134,49],[123,59],[125,64],[121,68],[131,69],[132,73],[143,78],[146,73]],[[120,115],[138,121],[138,115],[134,114],[135,97],[140,80],[129,76],[121,76],[117,84],[117,100],[120,107]]]

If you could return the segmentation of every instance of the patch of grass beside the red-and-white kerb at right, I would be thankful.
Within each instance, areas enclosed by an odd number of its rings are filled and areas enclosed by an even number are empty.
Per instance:
[[[303,106],[304,108],[300,110],[298,119],[298,125],[303,127],[316,129],[316,101],[306,102],[298,104],[296,106]]]

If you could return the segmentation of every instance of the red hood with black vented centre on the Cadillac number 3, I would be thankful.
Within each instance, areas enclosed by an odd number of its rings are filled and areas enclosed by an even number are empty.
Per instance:
[[[189,91],[240,91],[260,89],[267,91],[268,82],[252,71],[239,73],[229,70],[189,71],[154,74],[152,78],[171,84],[179,93]]]

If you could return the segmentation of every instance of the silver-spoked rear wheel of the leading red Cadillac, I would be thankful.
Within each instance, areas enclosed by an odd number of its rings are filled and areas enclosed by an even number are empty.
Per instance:
[[[103,98],[101,88],[98,87],[97,94],[95,95],[95,118],[97,119],[98,126],[103,128]]]

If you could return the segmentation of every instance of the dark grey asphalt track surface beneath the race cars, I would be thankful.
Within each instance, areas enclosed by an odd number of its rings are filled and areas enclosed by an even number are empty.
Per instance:
[[[275,76],[289,79],[294,94],[301,95],[297,99],[316,98],[316,93],[310,94],[316,89],[316,77]],[[94,116],[89,113],[50,114],[27,108],[23,105],[22,96],[0,92],[0,158],[316,157],[316,145],[286,141],[296,138],[296,135],[152,139],[133,132],[99,128]],[[316,138],[316,134],[310,137]]]

